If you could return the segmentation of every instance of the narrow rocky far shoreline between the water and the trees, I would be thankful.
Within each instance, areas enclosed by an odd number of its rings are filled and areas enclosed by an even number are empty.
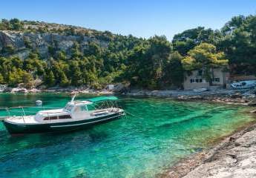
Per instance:
[[[25,88],[9,88],[1,93],[69,93],[69,94],[94,94],[94,95],[114,95],[121,96],[153,96],[165,99],[177,99],[179,101],[205,101],[223,103],[227,105],[256,105],[255,90],[207,90],[194,92],[193,90],[130,90],[121,93],[115,90],[92,90],[88,88],[48,88],[39,90],[36,88],[27,90]],[[256,112],[256,111],[255,111]]]

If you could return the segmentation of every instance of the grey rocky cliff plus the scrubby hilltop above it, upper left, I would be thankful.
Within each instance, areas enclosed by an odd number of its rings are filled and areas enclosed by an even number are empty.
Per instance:
[[[4,47],[11,47],[11,55],[25,59],[31,50],[38,50],[42,59],[50,56],[49,48],[62,50],[70,54],[70,48],[77,42],[80,50],[88,47],[89,42],[96,42],[100,47],[108,47],[108,42],[114,35],[108,31],[100,32],[83,27],[45,22],[23,22],[21,30],[0,29],[0,54]]]

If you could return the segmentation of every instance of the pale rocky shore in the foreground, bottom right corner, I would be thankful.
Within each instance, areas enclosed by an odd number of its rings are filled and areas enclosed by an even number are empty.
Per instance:
[[[256,121],[250,122],[211,148],[181,159],[158,177],[255,177],[255,133]]]

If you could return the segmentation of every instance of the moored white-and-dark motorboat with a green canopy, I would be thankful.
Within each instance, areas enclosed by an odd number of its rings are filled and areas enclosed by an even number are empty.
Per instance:
[[[26,115],[24,108],[19,107],[22,116],[10,116],[10,110],[17,108],[6,108],[9,116],[3,120],[4,125],[11,134],[70,131],[125,115],[121,108],[113,105],[117,100],[115,96],[100,96],[85,101],[74,99],[75,96],[65,108],[39,111],[35,115]]]

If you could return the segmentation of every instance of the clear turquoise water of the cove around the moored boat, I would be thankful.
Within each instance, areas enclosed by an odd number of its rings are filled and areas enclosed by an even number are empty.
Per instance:
[[[88,96],[80,96],[86,99]],[[63,107],[67,94],[0,94],[0,107]],[[0,124],[0,177],[156,177],[254,118],[247,108],[121,97],[128,116],[70,133],[10,136]]]

